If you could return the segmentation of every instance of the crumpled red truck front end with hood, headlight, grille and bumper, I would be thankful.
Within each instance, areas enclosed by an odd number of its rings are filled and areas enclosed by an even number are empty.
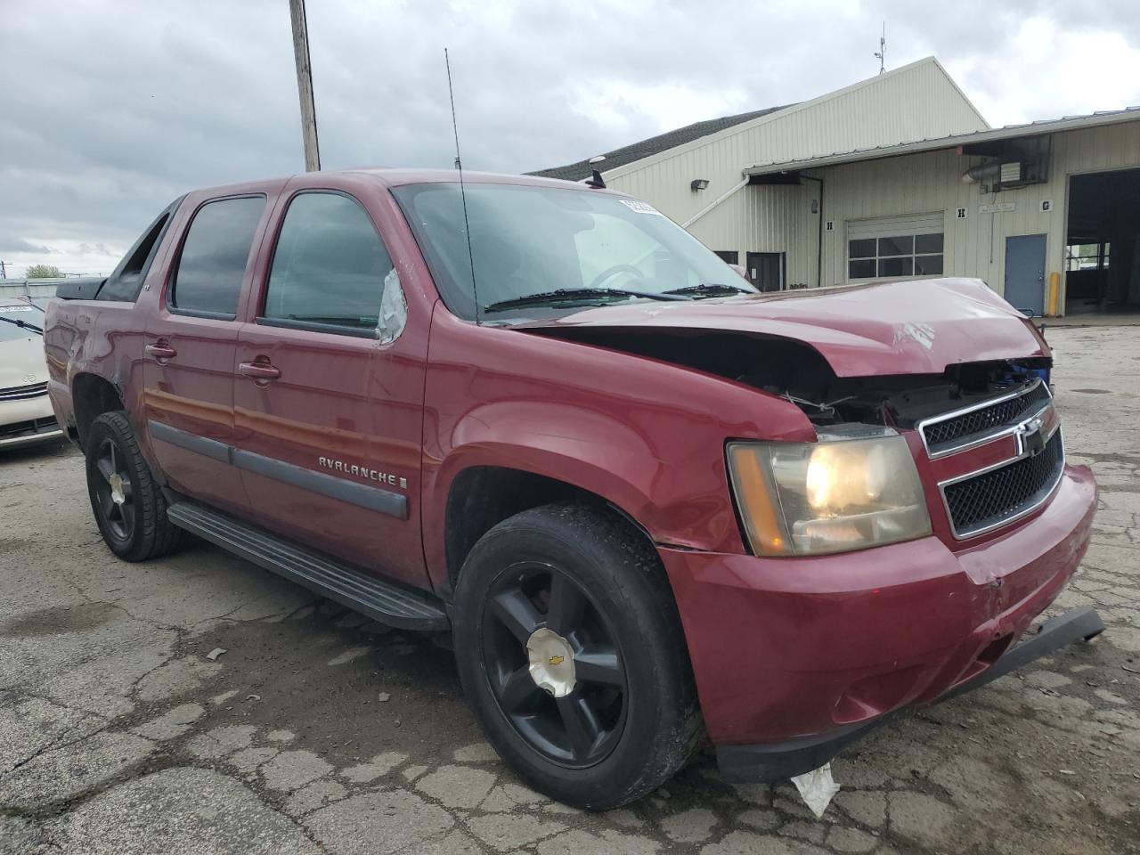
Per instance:
[[[870,321],[856,315],[869,292],[846,291],[524,327],[759,392],[756,432],[725,447],[744,554],[659,551],[727,780],[819,769],[797,785],[825,797],[822,767],[879,724],[1104,628],[1085,609],[1031,629],[1084,554],[1097,499],[1066,465],[1048,345],[963,283],[927,288],[958,308],[934,299],[940,317],[907,320],[923,315],[922,284],[906,286],[909,304]],[[798,408],[814,441],[765,438],[764,401]],[[763,668],[740,681],[706,624],[735,627]]]

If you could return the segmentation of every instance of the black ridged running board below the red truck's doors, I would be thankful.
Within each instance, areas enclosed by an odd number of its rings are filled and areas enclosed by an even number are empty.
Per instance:
[[[443,604],[425,592],[384,581],[195,502],[177,502],[166,515],[203,540],[381,624],[425,632],[451,628]]]

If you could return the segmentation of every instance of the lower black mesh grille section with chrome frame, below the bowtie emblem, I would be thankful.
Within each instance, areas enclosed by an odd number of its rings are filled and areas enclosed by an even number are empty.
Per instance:
[[[954,536],[978,535],[1029,513],[1053,491],[1064,469],[1065,448],[1058,430],[1032,457],[943,486]]]

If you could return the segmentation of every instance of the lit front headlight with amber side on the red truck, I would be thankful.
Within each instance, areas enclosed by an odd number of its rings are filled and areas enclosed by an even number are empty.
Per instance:
[[[930,534],[906,440],[839,425],[819,442],[730,442],[728,474],[757,555],[865,549]]]

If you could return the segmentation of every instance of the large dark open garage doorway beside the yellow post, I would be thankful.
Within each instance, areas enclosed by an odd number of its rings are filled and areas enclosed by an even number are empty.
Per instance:
[[[1065,314],[1140,308],[1140,169],[1069,178]]]

